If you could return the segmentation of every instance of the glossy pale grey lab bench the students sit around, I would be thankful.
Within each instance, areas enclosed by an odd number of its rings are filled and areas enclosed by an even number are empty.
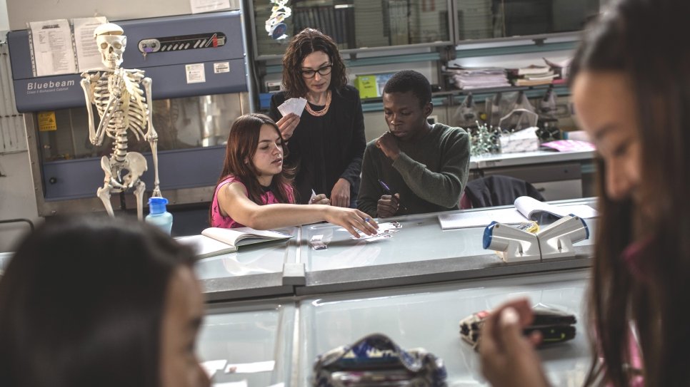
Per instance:
[[[554,204],[595,206],[591,199]],[[351,239],[326,223],[294,227],[284,229],[295,235],[287,242],[199,261],[197,272],[214,301],[201,333],[201,357],[276,362],[272,371],[216,373],[214,383],[308,386],[316,355],[381,333],[402,348],[421,346],[443,358],[449,386],[484,386],[477,354],[459,336],[459,321],[526,296],[577,317],[574,340],[539,354],[554,385],[581,385],[590,362],[582,311],[596,219],[586,220],[591,237],[576,243],[576,257],[516,264],[482,248],[484,227],[444,231],[437,215],[386,219],[402,227],[375,242]],[[311,249],[314,235],[328,249]],[[304,281],[291,282],[291,294],[279,281],[285,264],[304,267]],[[224,282],[209,282],[218,280]],[[221,284],[232,289],[224,291]],[[263,284],[268,288],[262,291]]]

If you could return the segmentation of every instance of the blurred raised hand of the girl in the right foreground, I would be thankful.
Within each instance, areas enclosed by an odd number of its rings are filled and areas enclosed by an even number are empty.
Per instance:
[[[491,312],[481,326],[481,373],[494,387],[546,387],[544,370],[534,346],[541,335],[525,337],[523,328],[534,314],[526,299],[509,301]]]

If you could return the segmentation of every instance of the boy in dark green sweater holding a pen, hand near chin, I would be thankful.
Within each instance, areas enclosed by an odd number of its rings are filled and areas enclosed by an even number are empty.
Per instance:
[[[376,217],[457,210],[469,173],[469,135],[429,124],[431,86],[399,71],[384,86],[389,131],[366,145],[357,208]]]

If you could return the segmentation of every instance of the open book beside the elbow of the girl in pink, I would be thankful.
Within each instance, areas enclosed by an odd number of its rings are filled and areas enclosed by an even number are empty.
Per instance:
[[[271,240],[290,239],[292,236],[271,230],[259,230],[249,227],[224,229],[209,227],[199,235],[179,237],[177,242],[191,246],[196,257],[206,258],[214,255],[236,252],[237,248],[246,244],[269,242]]]

